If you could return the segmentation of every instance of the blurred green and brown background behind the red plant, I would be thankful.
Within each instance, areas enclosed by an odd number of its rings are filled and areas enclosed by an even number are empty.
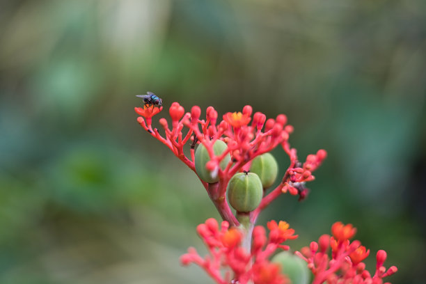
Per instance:
[[[1,1],[0,38],[0,283],[212,283],[178,258],[219,214],[136,123],[148,90],[287,114],[329,157],[259,223],[295,249],[353,223],[370,269],[384,248],[388,281],[425,283],[426,1]]]

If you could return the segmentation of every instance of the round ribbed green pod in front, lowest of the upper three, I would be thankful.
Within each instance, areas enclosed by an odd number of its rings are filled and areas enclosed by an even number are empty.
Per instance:
[[[229,181],[228,200],[239,212],[251,212],[262,200],[263,189],[260,178],[255,173],[237,173]]]

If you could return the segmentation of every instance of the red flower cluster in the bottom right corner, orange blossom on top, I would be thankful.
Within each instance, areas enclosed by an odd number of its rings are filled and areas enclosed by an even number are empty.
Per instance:
[[[311,242],[309,247],[304,247],[301,252],[297,251],[303,260],[308,262],[309,269],[315,278],[313,284],[318,283],[352,283],[352,284],[382,284],[383,278],[397,271],[395,266],[386,270],[383,266],[386,260],[386,251],[377,252],[376,271],[372,276],[365,270],[362,262],[370,254],[365,250],[361,242],[349,242],[354,237],[356,228],[352,224],[343,225],[341,222],[334,223],[331,227],[333,237],[322,235],[318,242]],[[331,258],[327,251],[331,247]]]

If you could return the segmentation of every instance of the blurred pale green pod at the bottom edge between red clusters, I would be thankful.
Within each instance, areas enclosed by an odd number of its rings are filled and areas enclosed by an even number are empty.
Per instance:
[[[288,251],[277,253],[272,262],[281,265],[281,272],[285,274],[292,284],[308,284],[310,271],[304,260]]]

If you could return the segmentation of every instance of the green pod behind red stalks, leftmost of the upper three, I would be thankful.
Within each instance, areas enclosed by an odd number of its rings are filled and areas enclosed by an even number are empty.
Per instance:
[[[216,140],[213,145],[213,152],[214,155],[221,155],[226,149],[228,148],[228,145],[226,145],[225,142],[221,140]],[[207,149],[205,148],[205,145],[200,144],[197,147],[197,150],[195,152],[195,166],[196,166],[196,173],[200,177],[201,180],[204,180],[208,183],[214,183],[219,181],[219,176],[217,173],[212,173],[212,171],[207,170],[205,168],[205,164],[207,164],[207,161],[210,161],[209,152],[207,152]],[[222,170],[226,168],[230,161],[230,155],[226,155],[222,161],[220,162],[219,166]]]

